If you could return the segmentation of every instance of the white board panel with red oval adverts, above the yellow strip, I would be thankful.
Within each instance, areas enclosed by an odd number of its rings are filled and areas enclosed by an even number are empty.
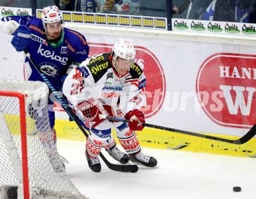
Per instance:
[[[90,55],[111,52],[113,42],[122,37],[81,33]],[[15,52],[9,36],[1,32],[0,37],[6,38],[1,66],[9,68],[1,78],[23,79],[22,53]],[[233,136],[244,135],[256,123],[255,46],[126,38],[133,42],[136,63],[147,78],[143,111],[148,123]]]

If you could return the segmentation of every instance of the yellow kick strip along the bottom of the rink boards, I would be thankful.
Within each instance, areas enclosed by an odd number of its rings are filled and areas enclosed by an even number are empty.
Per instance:
[[[84,140],[84,144],[86,142],[85,136],[74,122],[56,120],[55,129],[58,139]],[[115,132],[112,132],[112,134],[115,136],[116,142],[119,143]],[[141,132],[137,131],[137,135],[142,147],[153,149],[193,151],[238,157],[254,157],[256,154],[255,138],[245,144],[237,145],[151,128],[144,128]],[[216,136],[234,140],[239,138],[237,136]],[[177,147],[179,149],[176,149]]]

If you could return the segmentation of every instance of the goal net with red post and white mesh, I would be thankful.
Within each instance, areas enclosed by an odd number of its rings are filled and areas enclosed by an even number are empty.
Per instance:
[[[25,199],[86,198],[56,150],[48,92],[39,81],[0,79],[0,185],[22,184]]]

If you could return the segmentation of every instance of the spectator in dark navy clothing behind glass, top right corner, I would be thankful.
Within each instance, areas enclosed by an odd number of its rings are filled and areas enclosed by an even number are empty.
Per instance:
[[[254,0],[214,0],[208,6],[205,20],[250,23]]]

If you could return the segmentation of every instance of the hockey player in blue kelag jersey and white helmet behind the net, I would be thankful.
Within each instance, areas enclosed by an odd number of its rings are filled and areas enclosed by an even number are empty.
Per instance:
[[[64,27],[62,12],[55,5],[45,7],[41,19],[33,16],[8,16],[2,18],[1,26],[3,31],[13,35],[12,45],[17,52],[26,49],[30,53],[31,59],[47,75],[56,91],[61,91],[65,77],[76,63],[88,57],[86,38]],[[28,80],[44,82],[28,58],[24,66]],[[49,104],[53,104],[51,99],[55,99],[54,96],[50,95]],[[56,139],[54,111],[49,111],[49,122]]]

